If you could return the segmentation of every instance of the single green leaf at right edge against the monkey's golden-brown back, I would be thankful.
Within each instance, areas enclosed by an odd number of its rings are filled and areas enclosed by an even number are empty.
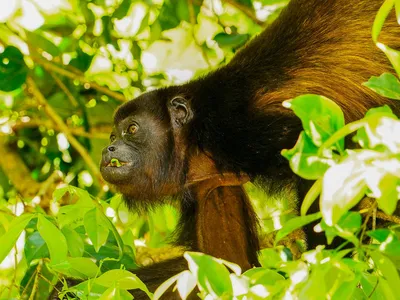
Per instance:
[[[400,82],[393,74],[384,73],[379,77],[372,76],[363,85],[383,97],[400,100]]]

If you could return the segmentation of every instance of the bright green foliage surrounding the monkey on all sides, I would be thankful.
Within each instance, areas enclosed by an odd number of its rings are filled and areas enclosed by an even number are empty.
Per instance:
[[[294,172],[315,180],[301,216],[290,195],[266,199],[247,186],[263,232],[274,237],[265,238],[262,267],[242,273],[186,252],[188,270],[154,295],[130,272],[181,249],[143,247],[165,246],[177,222],[173,206],[146,216],[128,212],[99,175],[113,110],[228,61],[286,2],[0,2],[0,298],[44,299],[64,277],[83,282],[65,282],[61,295],[81,299],[131,299],[132,288],[157,299],[175,284],[182,298],[196,286],[207,299],[398,298],[400,218],[392,214],[400,193],[400,121],[380,107],[345,124],[341,109],[318,95],[283,103],[304,131],[282,154]],[[379,43],[395,2],[382,6],[372,39],[400,74],[399,53]],[[365,85],[400,100],[395,75],[377,74]],[[357,149],[344,147],[347,136]],[[307,215],[318,197],[321,212]],[[293,232],[315,220],[328,244],[337,237],[343,244],[305,252]],[[378,228],[379,221],[391,224]]]

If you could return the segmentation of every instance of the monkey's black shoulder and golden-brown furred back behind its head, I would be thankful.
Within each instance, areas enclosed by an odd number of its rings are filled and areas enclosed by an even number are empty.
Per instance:
[[[221,169],[279,176],[287,169],[280,151],[293,147],[302,130],[282,101],[320,94],[342,107],[347,122],[383,104],[399,113],[396,102],[362,85],[371,76],[394,73],[371,37],[381,4],[292,0],[228,65],[189,84],[198,88],[190,138],[212,153]],[[379,41],[400,49],[394,11]]]

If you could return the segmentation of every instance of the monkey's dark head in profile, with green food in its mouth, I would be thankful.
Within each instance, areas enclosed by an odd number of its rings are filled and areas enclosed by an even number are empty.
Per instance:
[[[192,116],[189,101],[173,87],[143,94],[117,109],[100,170],[129,206],[147,206],[181,192]]]

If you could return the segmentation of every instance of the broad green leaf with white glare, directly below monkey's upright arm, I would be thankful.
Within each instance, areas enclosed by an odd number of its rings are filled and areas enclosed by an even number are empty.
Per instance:
[[[213,297],[231,294],[229,271],[217,259],[197,252],[185,252],[190,271],[197,276],[198,284]]]

